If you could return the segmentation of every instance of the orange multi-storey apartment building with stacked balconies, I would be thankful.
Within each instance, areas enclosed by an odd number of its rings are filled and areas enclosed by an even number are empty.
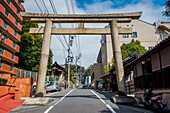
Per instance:
[[[14,64],[18,63],[20,47],[17,42],[21,41],[18,34],[22,30],[23,20],[20,12],[24,11],[21,3],[24,0],[1,0],[0,1],[0,73],[17,75]]]

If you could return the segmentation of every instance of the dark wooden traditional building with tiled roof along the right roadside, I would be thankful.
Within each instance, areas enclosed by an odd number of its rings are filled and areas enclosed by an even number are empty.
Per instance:
[[[124,69],[133,71],[129,81],[134,82],[136,97],[144,100],[146,89],[151,88],[155,94],[162,92],[163,102],[170,106],[170,37],[127,64]]]

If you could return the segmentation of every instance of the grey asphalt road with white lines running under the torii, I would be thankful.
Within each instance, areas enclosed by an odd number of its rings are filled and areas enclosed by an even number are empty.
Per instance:
[[[52,104],[30,108],[19,113],[146,113],[147,111],[127,106],[115,105],[108,94],[92,89],[69,89],[56,93]]]

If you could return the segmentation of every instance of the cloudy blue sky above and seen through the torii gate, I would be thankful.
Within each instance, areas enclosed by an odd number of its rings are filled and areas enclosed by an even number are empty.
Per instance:
[[[39,2],[39,0],[37,0]],[[50,13],[52,12],[51,6],[49,4],[49,1],[44,0]],[[58,14],[68,14],[65,0],[53,0],[54,4],[56,6]],[[152,0],[141,0],[139,3],[135,4],[135,1],[131,4],[125,5],[121,8],[113,8],[114,3],[111,0],[102,2],[102,0],[96,0],[94,4],[85,4],[85,9],[78,8],[76,6],[76,1],[74,0],[74,8],[76,14],[108,14],[108,13],[125,13],[125,12],[137,12],[137,11],[143,11],[143,14],[140,19],[149,22],[154,23],[158,20],[164,20],[164,18],[161,14],[161,12],[164,10],[163,7],[159,5],[153,4]],[[41,3],[39,2],[39,5],[41,6]],[[39,12],[38,7],[35,4],[35,0],[25,0],[25,9],[27,12]],[[69,2],[69,8],[71,8],[71,4]],[[42,6],[41,6],[42,8]],[[42,8],[43,9],[43,8]],[[70,9],[71,10],[71,9]],[[72,13],[72,11],[71,11]],[[87,27],[104,27],[106,24],[86,24]],[[63,27],[71,27],[70,24],[64,24]],[[67,40],[68,40],[68,36]],[[63,37],[61,36],[62,40]],[[74,39],[75,41],[75,39]],[[64,40],[63,40],[63,43]],[[88,67],[90,64],[93,64],[96,62],[96,58],[100,49],[100,36],[98,35],[83,35],[80,36],[80,43],[81,43],[81,52],[82,52],[82,60],[81,64],[82,66]],[[54,61],[56,60],[59,64],[65,63],[64,57],[67,56],[67,52],[65,51],[65,54],[63,53],[63,47],[59,40],[56,37],[52,37],[51,41],[51,48],[53,49],[54,53]],[[72,51],[74,54],[74,57],[77,56],[77,49],[74,42],[74,46],[72,47]],[[65,55],[65,56],[64,56]]]

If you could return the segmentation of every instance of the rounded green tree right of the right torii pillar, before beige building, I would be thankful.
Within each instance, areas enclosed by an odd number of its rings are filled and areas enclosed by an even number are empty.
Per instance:
[[[145,53],[147,50],[145,49],[145,47],[143,47],[140,43],[140,41],[138,40],[131,40],[130,43],[128,44],[123,44],[121,46],[121,52],[122,52],[122,59],[125,59],[126,57],[128,57],[132,52],[136,52],[138,54],[138,56],[142,55],[143,53]]]

